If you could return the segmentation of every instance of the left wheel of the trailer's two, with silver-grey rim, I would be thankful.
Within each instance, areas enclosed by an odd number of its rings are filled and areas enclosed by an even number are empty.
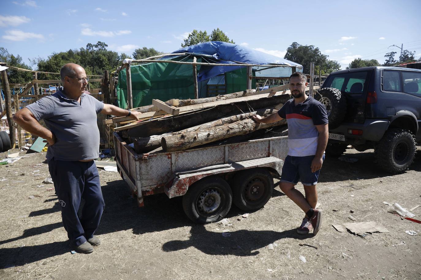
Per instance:
[[[218,222],[228,214],[232,191],[228,183],[218,176],[209,176],[189,186],[183,196],[183,209],[193,222]]]

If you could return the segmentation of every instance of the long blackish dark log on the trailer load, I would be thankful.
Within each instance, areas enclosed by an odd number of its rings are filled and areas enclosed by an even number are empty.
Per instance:
[[[170,131],[180,131],[185,128],[208,123],[219,118],[241,113],[250,113],[254,108],[266,108],[284,104],[290,99],[289,95],[278,95],[274,97],[261,98],[247,102],[219,105],[213,108],[195,111],[192,113],[180,114],[176,117],[167,117],[160,120],[135,123],[126,126],[123,132],[125,138],[141,138],[151,135],[159,135]],[[117,129],[116,129],[117,130]]]

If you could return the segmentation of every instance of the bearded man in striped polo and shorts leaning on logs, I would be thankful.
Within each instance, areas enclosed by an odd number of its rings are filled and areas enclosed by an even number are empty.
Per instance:
[[[319,231],[322,212],[316,208],[316,184],[325,158],[328,143],[328,115],[325,106],[305,94],[307,77],[300,72],[290,76],[288,100],[278,111],[265,118],[253,118],[259,123],[274,123],[286,119],[288,123],[288,156],[281,175],[281,190],[306,213],[297,233]],[[304,185],[305,197],[295,188],[298,181]]]

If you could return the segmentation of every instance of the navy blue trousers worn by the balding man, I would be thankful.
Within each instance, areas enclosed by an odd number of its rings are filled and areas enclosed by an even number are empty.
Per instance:
[[[105,203],[95,162],[51,159],[48,169],[61,204],[61,217],[70,242],[79,246],[98,228]],[[77,212],[85,200],[80,217]]]

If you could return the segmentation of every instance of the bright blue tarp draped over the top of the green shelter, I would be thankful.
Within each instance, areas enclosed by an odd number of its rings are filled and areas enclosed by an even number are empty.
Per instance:
[[[197,44],[194,46],[184,47],[182,49],[176,50],[172,53],[181,53],[187,52],[197,55],[206,55],[212,56],[216,63],[248,63],[248,64],[273,64],[273,65],[290,65],[296,66],[296,70],[302,72],[303,66],[301,64],[286,60],[284,58],[279,58],[274,55],[269,55],[264,52],[259,52],[257,50],[249,49],[248,47],[243,47],[238,44],[231,44],[226,42],[206,42],[202,44]],[[199,71],[197,79],[199,81],[204,81],[220,75],[225,72],[237,70],[239,68],[244,68],[244,66],[213,66],[213,67],[203,67],[202,71]],[[273,70],[277,69],[277,70]],[[258,71],[258,68],[255,68]],[[273,73],[275,71],[275,73]],[[260,71],[263,72],[263,71]],[[272,75],[274,77],[282,77],[291,75],[290,67],[278,67],[272,68]],[[264,73],[256,72],[256,76],[265,76]]]

